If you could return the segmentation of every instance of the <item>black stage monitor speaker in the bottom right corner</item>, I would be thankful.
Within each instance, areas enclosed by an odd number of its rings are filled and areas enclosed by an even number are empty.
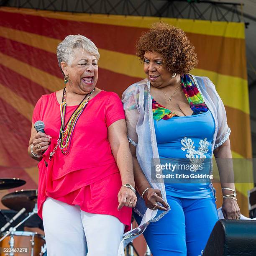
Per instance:
[[[218,220],[203,256],[255,256],[256,221]]]

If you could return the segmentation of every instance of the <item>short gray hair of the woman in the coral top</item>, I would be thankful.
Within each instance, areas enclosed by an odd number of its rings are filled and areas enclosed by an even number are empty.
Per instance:
[[[93,54],[97,60],[100,59],[100,53],[95,44],[85,36],[69,35],[57,47],[57,59],[61,69],[61,61],[71,64],[74,49],[82,48],[90,54]],[[62,69],[61,72],[63,73]],[[64,73],[63,73],[64,74]]]

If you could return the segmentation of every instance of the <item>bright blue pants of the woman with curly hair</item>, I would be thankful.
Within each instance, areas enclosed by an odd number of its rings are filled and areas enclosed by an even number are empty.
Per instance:
[[[201,256],[218,221],[214,198],[187,199],[167,196],[171,210],[152,222],[143,235],[153,256]],[[134,213],[137,223],[142,218]]]

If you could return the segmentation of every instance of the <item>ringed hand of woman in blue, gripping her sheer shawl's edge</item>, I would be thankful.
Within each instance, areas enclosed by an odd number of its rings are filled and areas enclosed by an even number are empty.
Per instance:
[[[148,189],[144,193],[143,199],[145,201],[146,207],[148,207],[151,210],[156,210],[156,209],[159,209],[161,211],[168,210],[168,205],[166,202],[164,202],[161,191],[159,189],[153,189],[153,188]]]

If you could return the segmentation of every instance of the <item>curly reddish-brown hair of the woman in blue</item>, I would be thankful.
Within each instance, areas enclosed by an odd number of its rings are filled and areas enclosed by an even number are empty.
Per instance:
[[[172,73],[187,74],[197,65],[197,54],[184,31],[169,24],[153,23],[136,44],[136,55],[144,62],[147,51],[161,54],[164,65]]]

